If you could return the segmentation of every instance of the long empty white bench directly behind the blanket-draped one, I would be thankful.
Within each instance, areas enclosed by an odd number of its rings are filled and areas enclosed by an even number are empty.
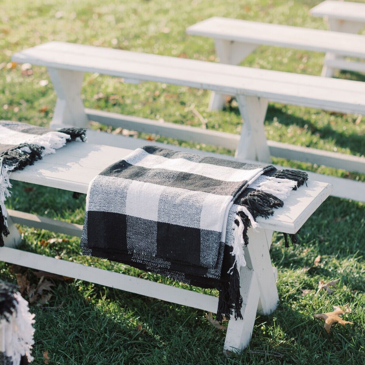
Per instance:
[[[269,100],[365,115],[364,82],[332,78],[324,80],[318,76],[64,42],[49,42],[22,50],[14,54],[12,60],[48,68],[58,96],[52,126],[67,124],[87,127],[89,120],[94,120],[114,127],[236,149],[235,157],[240,160],[270,162],[270,156],[273,155],[365,173],[364,157],[267,141],[264,130]],[[241,137],[175,123],[161,123],[85,109],[80,97],[84,72],[123,77],[125,82],[130,83],[156,81],[235,95],[244,120]],[[114,138],[112,142],[111,137],[115,136],[104,137],[91,133],[89,141],[121,146],[121,140],[117,141]],[[322,174],[311,174],[310,178],[334,185],[335,196],[365,201],[365,184],[358,181]]]

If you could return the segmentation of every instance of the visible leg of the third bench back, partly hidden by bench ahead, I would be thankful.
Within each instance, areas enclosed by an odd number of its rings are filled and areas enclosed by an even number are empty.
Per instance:
[[[242,59],[246,58],[256,49],[257,45],[248,43],[238,43],[225,41],[224,39],[215,40],[215,51],[221,64],[238,65]],[[212,92],[208,110],[222,110],[226,101],[226,95]]]

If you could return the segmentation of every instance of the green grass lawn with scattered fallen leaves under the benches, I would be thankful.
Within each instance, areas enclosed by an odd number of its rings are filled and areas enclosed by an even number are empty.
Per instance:
[[[308,14],[319,2],[2,0],[0,119],[47,126],[52,118],[53,87],[51,82],[40,83],[49,80],[46,69],[24,70],[21,65],[9,64],[11,54],[23,48],[57,40],[214,62],[214,43],[188,37],[187,26],[219,15],[326,28],[322,19]],[[319,75],[322,62],[323,54],[319,53],[259,47],[242,65]],[[357,73],[336,76],[365,81],[365,76]],[[207,91],[164,84],[128,85],[99,74],[86,74],[82,88],[87,107],[199,126],[194,107],[208,120],[208,128],[238,133],[237,103],[227,104],[223,111],[207,112],[209,96]],[[357,115],[270,103],[265,130],[274,141],[364,155],[364,122],[365,118]],[[365,180],[364,175],[323,166],[273,162]],[[12,191],[9,208],[83,223],[84,196],[75,200],[69,192],[18,182]],[[20,231],[24,250],[188,287],[126,265],[82,257],[76,238],[28,227],[20,227]],[[50,238],[66,240],[42,245]],[[45,363],[44,351],[48,351],[49,364],[365,364],[365,204],[331,197],[302,228],[299,246],[284,249],[282,241],[280,234],[274,235],[271,252],[278,268],[279,307],[270,316],[257,316],[250,347],[241,355],[223,356],[225,331],[213,327],[203,311],[84,281],[54,280],[49,301],[31,306],[37,320],[34,364]],[[321,265],[303,270],[313,265],[317,255],[322,256]],[[27,275],[31,283],[39,280],[25,268],[1,263],[0,270],[0,277],[7,281],[16,282],[18,272]],[[319,280],[337,278],[340,281],[332,295],[324,291],[315,295]],[[302,295],[302,289],[312,291]],[[313,314],[346,303],[352,312],[344,318],[354,324],[334,324],[328,335],[323,322]]]

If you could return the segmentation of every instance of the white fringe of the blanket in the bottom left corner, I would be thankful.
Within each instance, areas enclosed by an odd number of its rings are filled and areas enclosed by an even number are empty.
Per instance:
[[[28,362],[33,360],[31,356],[32,345],[34,344],[34,314],[29,312],[28,302],[22,298],[20,293],[15,293],[18,301],[16,311],[8,318],[0,321],[0,331],[4,334],[4,353],[12,358],[13,364],[19,364],[20,358],[26,356]]]

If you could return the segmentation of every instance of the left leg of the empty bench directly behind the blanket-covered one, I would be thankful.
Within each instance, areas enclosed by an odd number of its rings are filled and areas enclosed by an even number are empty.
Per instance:
[[[57,93],[51,127],[87,127],[88,118],[80,97],[84,73],[52,68],[48,72]]]

